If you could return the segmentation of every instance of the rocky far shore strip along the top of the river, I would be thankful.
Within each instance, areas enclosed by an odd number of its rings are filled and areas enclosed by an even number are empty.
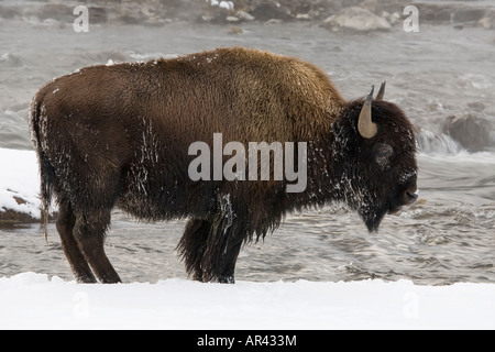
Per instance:
[[[472,3],[472,4],[471,4]],[[66,25],[74,22],[74,9],[84,4],[89,21],[98,23],[163,26],[175,22],[235,25],[242,22],[277,24],[307,22],[330,31],[387,31],[403,25],[405,3],[398,0],[105,0],[16,1],[0,0],[0,19],[28,19]],[[495,9],[463,3],[414,2],[421,23],[495,28]],[[235,33],[233,31],[233,33]]]

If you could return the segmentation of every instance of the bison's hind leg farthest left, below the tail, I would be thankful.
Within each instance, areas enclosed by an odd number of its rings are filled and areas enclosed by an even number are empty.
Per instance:
[[[57,231],[61,237],[62,248],[77,280],[92,284],[97,280],[73,234],[75,223],[76,218],[70,206],[62,201],[58,206],[57,219]]]

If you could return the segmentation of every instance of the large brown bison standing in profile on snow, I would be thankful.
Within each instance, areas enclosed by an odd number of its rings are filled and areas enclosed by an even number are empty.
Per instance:
[[[384,89],[346,101],[318,67],[240,47],[81,68],[32,101],[42,212],[46,219],[55,196],[78,282],[120,282],[103,250],[118,207],[148,221],[187,218],[177,251],[188,274],[233,283],[243,243],[264,238],[286,213],[339,201],[375,231],[386,213],[416,200],[413,127],[383,100]],[[288,193],[287,177],[191,179],[189,146],[212,147],[218,133],[221,143],[245,146],[306,143],[304,164],[285,161],[306,167],[305,188]]]

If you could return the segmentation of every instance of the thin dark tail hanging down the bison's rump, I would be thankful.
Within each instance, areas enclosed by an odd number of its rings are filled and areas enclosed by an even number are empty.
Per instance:
[[[34,143],[34,147],[37,154],[37,161],[40,164],[40,178],[41,178],[41,217],[43,220],[43,229],[45,233],[45,241],[48,238],[48,217],[50,217],[50,206],[52,204],[53,195],[53,184],[55,179],[55,169],[50,163],[46,156],[45,148],[45,135],[46,133],[46,116],[43,113],[43,108],[41,102],[43,101],[43,95],[37,94],[32,103],[30,110],[30,128],[31,135]]]

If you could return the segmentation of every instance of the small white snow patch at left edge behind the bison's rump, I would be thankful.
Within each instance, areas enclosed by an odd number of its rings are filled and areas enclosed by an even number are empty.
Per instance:
[[[40,219],[40,179],[33,151],[0,148],[0,212],[11,209]],[[15,198],[22,199],[19,204]]]

